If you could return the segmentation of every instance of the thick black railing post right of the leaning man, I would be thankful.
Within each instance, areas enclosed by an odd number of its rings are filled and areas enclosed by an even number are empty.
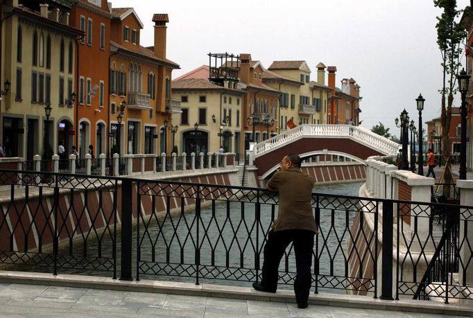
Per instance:
[[[393,201],[383,200],[383,243],[381,246],[381,297],[379,299],[394,300],[393,298]],[[375,248],[376,245],[375,245]],[[377,283],[379,277],[377,277]],[[397,282],[395,287],[397,286]]]

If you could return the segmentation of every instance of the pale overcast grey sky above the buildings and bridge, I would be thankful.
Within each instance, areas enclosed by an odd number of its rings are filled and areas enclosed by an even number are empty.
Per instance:
[[[342,78],[360,85],[368,129],[381,122],[399,136],[394,119],[404,108],[418,125],[419,93],[422,121],[440,116],[440,10],[432,0],[112,0],[113,8],[130,6],[144,24],[143,46],[153,45],[153,13],[169,14],[167,57],[181,67],[173,78],[208,64],[209,52],[250,53],[266,68],[273,60],[305,60],[312,79],[322,62],[337,67],[337,86]]]

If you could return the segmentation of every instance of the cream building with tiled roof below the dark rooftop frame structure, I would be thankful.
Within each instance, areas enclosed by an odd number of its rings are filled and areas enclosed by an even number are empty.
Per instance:
[[[178,153],[218,152],[221,145],[225,152],[238,148],[246,93],[229,84],[216,85],[208,76],[209,67],[203,66],[171,84],[172,98],[180,100],[182,110],[178,130],[173,134]]]

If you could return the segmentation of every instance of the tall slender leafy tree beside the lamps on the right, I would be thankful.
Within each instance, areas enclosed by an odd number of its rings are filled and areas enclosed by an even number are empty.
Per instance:
[[[462,49],[461,42],[466,37],[466,31],[458,22],[458,17],[462,10],[456,9],[456,0],[433,0],[433,5],[442,9],[440,17],[437,17],[437,44],[442,55],[442,88],[440,89],[440,123],[442,124],[442,149],[445,160],[444,171],[442,173],[443,182],[453,183],[451,176],[450,148],[449,148],[449,128],[451,122],[451,105],[454,102],[456,93],[456,74],[461,65],[460,55]],[[441,180],[442,181],[442,180]],[[449,188],[444,188],[449,191]]]

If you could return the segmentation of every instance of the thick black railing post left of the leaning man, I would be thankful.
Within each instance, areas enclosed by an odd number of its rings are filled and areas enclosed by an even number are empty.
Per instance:
[[[132,182],[121,180],[121,281],[132,281]]]

